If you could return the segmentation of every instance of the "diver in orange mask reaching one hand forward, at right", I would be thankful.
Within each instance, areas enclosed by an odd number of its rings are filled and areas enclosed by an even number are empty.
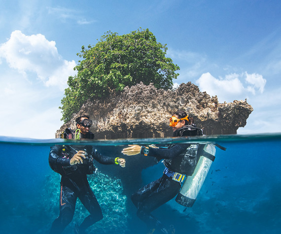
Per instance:
[[[173,136],[203,135],[203,131],[196,128],[193,118],[189,118],[186,112],[177,111],[170,119],[173,128]],[[131,200],[137,207],[137,215],[148,228],[148,233],[158,231],[164,234],[174,234],[173,225],[166,228],[151,212],[167,201],[173,199],[180,191],[185,175],[192,175],[198,160],[198,153],[202,150],[200,144],[171,144],[168,147],[149,147],[129,145],[122,150],[125,155],[142,154],[155,157],[157,161],[164,159],[165,170],[161,178],[140,188],[131,196]],[[204,146],[203,146],[204,148]]]

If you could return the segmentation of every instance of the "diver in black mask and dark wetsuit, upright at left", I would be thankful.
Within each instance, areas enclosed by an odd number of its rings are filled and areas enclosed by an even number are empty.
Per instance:
[[[82,139],[92,139],[90,127],[93,122],[88,115],[82,115],[76,119],[76,127]],[[87,174],[93,174],[96,168],[93,160],[101,164],[116,164],[125,167],[125,159],[110,158],[101,155],[91,145],[55,145],[51,147],[49,154],[50,167],[61,174],[60,214],[52,224],[50,233],[62,233],[71,222],[77,198],[82,202],[90,215],[80,226],[75,224],[74,233],[82,234],[94,223],[103,219],[103,213],[99,202],[91,190]]]

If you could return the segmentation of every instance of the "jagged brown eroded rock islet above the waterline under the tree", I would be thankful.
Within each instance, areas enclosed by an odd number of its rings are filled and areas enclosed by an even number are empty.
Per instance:
[[[56,135],[66,128],[76,129],[75,119],[87,113],[96,139],[170,137],[169,119],[177,110],[186,111],[204,134],[211,135],[236,134],[253,108],[246,100],[218,103],[216,96],[200,92],[191,82],[168,91],[140,83],[107,99],[88,100]]]

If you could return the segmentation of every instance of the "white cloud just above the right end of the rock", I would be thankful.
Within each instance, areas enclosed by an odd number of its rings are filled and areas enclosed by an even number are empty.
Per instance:
[[[255,95],[256,91],[263,93],[266,79],[260,74],[248,74],[247,72],[215,78],[208,72],[202,74],[196,83],[201,92],[206,91],[211,96],[216,95],[220,102],[230,102],[245,100],[249,96]]]

